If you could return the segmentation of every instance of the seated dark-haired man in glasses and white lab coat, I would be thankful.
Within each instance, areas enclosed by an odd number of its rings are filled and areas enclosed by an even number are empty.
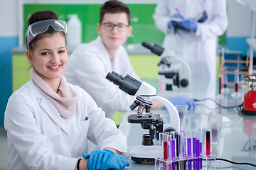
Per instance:
[[[129,106],[135,100],[134,96],[129,96],[105,79],[108,72],[112,71],[139,79],[122,46],[132,33],[130,18],[127,5],[120,1],[105,2],[100,8],[100,23],[97,24],[100,35],[88,44],[79,45],[70,55],[68,66],[63,72],[68,82],[82,87],[92,96],[107,118],[112,118],[114,111],[129,111]],[[186,104],[188,108],[195,106],[189,98],[172,99],[173,103],[176,102],[174,104]],[[157,107],[164,106],[153,101],[152,108]]]

